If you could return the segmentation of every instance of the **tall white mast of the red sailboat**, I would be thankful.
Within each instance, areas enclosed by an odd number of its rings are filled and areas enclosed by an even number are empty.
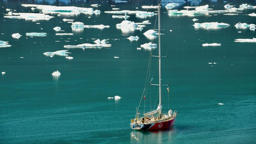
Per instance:
[[[161,41],[160,41],[160,4],[158,4],[158,43],[159,43],[159,105],[161,105]],[[161,115],[161,111],[160,111]]]

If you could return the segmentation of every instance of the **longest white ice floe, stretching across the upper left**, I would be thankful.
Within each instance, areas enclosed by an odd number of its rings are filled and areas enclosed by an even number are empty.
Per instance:
[[[76,6],[52,6],[52,5],[38,5],[38,4],[21,4],[25,7],[36,7],[36,9],[41,10],[43,13],[60,13],[63,15],[72,14],[99,14],[100,10],[93,10],[93,8],[84,8]]]

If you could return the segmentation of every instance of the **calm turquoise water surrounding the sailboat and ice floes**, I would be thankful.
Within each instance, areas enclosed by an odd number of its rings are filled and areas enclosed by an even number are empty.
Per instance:
[[[229,2],[236,7],[242,3],[256,5],[250,0]],[[21,4],[91,7],[96,3],[101,5],[96,8],[101,13],[91,18],[85,14],[60,17],[49,14],[55,18],[32,22],[3,17],[7,13],[6,8],[31,12],[30,7],[22,7]],[[139,19],[130,15],[128,20],[149,20],[152,24],[142,31],[124,33],[116,29],[116,24],[124,19],[113,19],[112,15],[118,14],[104,11],[112,11],[110,5],[116,5],[120,10],[146,11],[141,6],[151,4],[156,5],[157,2],[0,1],[0,40],[12,45],[0,48],[0,71],[6,72],[0,76],[0,143],[255,143],[256,44],[234,42],[237,38],[256,36],[255,31],[234,27],[238,22],[256,24],[254,17],[246,15],[255,9],[244,10],[234,16],[217,13],[210,14],[211,17],[187,17],[169,16],[163,6],[161,28],[165,29],[162,31],[165,35],[161,36],[162,55],[168,53],[169,58],[163,58],[162,83],[169,82],[170,108],[177,110],[179,116],[176,124],[168,130],[131,130],[130,119],[135,116],[144,89],[150,53],[144,49],[137,50],[137,47],[148,42],[158,44],[157,38],[149,40],[143,35],[154,28],[155,17]],[[225,5],[222,1],[203,0],[201,3],[186,3],[182,7],[197,4],[209,4],[214,10],[224,10]],[[84,31],[74,32],[70,23],[62,21],[64,18],[84,22],[85,25],[109,25],[110,28],[84,28]],[[196,21],[199,23],[217,21],[228,23],[230,27],[195,29],[193,18],[199,19]],[[52,29],[56,26],[74,35],[56,36]],[[45,32],[47,36],[30,37],[26,36],[27,32]],[[13,33],[22,36],[14,39]],[[139,36],[140,39],[130,42],[129,36]],[[72,60],[43,54],[66,50],[64,45],[93,44],[92,38],[108,38],[112,47],[69,49],[69,56],[74,57]],[[220,43],[221,46],[203,47],[204,43]],[[153,54],[157,55],[157,52],[158,49],[153,50]],[[120,58],[114,59],[114,56]],[[156,63],[153,58],[153,71]],[[61,72],[58,79],[51,75],[56,70]],[[157,83],[157,72],[153,83]],[[146,104],[151,100],[154,107],[157,88],[151,87],[151,91]],[[107,97],[115,95],[122,98],[108,100]],[[167,111],[165,87],[162,103],[163,110]],[[146,110],[150,110],[149,105]]]

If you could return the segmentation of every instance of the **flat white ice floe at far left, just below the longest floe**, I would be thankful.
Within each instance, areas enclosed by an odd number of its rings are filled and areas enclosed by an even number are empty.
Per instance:
[[[11,16],[4,16],[4,18],[11,19],[25,19],[25,20],[50,20],[53,16],[45,15],[43,13],[12,13]]]

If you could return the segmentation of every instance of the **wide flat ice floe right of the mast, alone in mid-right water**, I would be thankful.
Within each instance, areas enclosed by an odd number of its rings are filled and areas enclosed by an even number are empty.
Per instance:
[[[227,28],[230,25],[227,23],[218,23],[218,22],[204,22],[204,23],[195,23],[193,25],[195,28],[204,28],[204,29],[220,29]]]

